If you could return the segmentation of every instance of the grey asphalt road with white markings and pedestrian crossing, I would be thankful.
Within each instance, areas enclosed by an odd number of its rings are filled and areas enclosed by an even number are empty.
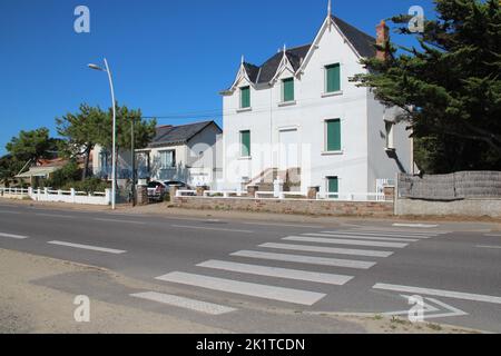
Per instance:
[[[501,233],[481,224],[340,221],[135,216],[1,202],[0,248],[108,268],[170,293],[104,288],[71,276],[40,281],[50,287],[235,332],[360,332],[317,316],[406,317],[407,297],[416,295],[426,322],[501,333]]]

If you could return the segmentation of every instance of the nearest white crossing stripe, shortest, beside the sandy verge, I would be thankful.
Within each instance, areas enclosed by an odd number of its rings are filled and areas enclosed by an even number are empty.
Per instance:
[[[151,301],[163,303],[167,305],[171,305],[179,308],[190,309],[198,313],[209,314],[209,315],[223,315],[232,312],[236,312],[237,309],[226,307],[218,304],[206,303],[196,299],[189,299],[184,297],[178,297],[169,294],[156,293],[156,291],[146,291],[146,293],[136,293],[131,294],[131,297],[147,299]]]

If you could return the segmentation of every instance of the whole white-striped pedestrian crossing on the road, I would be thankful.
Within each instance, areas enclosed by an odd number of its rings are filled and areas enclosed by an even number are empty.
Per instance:
[[[318,290],[321,285],[338,288],[355,279],[355,276],[351,273],[346,274],[346,270],[369,270],[399,250],[444,234],[446,231],[418,231],[394,227],[316,230],[285,236],[281,241],[261,244],[253,250],[230,253],[228,260],[202,261],[194,266],[196,273],[171,271],[156,279],[167,284],[199,288],[204,293],[213,290],[292,305],[313,306],[327,296],[325,287],[322,288],[323,291]],[[284,263],[287,263],[287,268],[283,267]],[[318,267],[324,268],[322,271],[312,270]],[[223,276],[217,276],[218,274]],[[256,283],[261,278],[266,281]],[[269,280],[275,280],[276,284]],[[301,281],[302,286],[307,284],[308,288],[286,288],[283,286],[285,280]],[[335,291],[335,289],[330,290]],[[176,296],[158,295],[154,297],[146,295],[145,299],[205,313],[204,307],[200,310],[200,305],[205,306],[206,301],[202,300],[200,304],[193,300],[187,303],[184,299],[177,299]],[[224,313],[219,314],[234,312],[232,308],[228,310],[224,309]]]

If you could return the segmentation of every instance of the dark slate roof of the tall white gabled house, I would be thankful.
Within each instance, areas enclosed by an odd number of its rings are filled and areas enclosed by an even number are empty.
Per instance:
[[[340,28],[340,30],[347,38],[347,40],[353,44],[353,47],[355,48],[355,50],[358,52],[360,56],[371,58],[376,55],[376,49],[374,47],[376,40],[374,37],[371,37],[367,33],[362,32],[361,30],[354,28],[350,23],[344,22],[340,18],[336,18],[334,16],[332,18],[336,23],[336,26]],[[294,70],[297,70],[301,67],[304,58],[306,57],[311,48],[312,44],[305,44],[296,48],[291,48],[285,51]],[[265,61],[261,67],[247,62],[244,63],[245,69],[247,71],[247,76],[249,77],[250,81],[254,83],[269,82],[276,75],[276,71],[278,69],[278,66],[281,65],[283,57],[284,51],[279,51],[272,58],[269,58],[267,61]]]

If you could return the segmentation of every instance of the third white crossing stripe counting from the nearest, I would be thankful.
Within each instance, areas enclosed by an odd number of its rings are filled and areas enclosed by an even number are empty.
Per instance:
[[[197,267],[229,270],[257,276],[277,277],[294,280],[307,280],[313,283],[336,285],[336,286],[342,286],[354,278],[353,276],[322,274],[315,271],[256,266],[247,264],[236,264],[223,260],[208,260],[197,265]]]

